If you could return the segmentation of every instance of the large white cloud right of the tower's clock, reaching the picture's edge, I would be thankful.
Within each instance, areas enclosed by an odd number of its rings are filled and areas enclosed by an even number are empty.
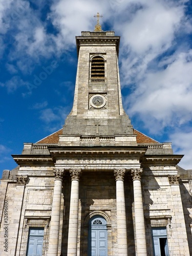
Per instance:
[[[126,98],[131,116],[139,115],[151,132],[165,126],[180,126],[192,114],[192,50],[175,54],[166,69],[146,73],[135,91]],[[172,57],[173,59],[173,57]],[[167,60],[169,62],[169,60]],[[135,100],[137,99],[137,100]]]

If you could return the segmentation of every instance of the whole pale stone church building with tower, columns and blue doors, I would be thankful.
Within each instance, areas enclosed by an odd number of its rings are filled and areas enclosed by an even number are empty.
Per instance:
[[[63,129],[25,143],[0,185],[0,254],[189,256],[191,173],[122,107],[120,37],[81,32]]]

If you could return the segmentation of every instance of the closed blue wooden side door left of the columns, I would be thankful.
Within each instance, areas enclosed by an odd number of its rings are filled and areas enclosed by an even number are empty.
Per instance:
[[[44,228],[29,228],[27,256],[41,256]]]

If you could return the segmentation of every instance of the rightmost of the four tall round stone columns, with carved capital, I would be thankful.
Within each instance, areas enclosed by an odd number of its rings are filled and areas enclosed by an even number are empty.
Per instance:
[[[133,189],[134,189],[134,208],[135,208],[135,233],[136,233],[136,254],[137,256],[147,256],[145,222],[143,212],[143,200],[141,191],[142,169],[132,169]]]

